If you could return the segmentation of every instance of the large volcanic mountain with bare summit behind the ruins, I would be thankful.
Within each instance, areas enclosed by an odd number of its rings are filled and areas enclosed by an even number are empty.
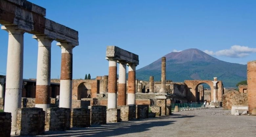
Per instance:
[[[224,87],[235,87],[246,80],[247,65],[229,63],[214,58],[198,49],[187,49],[181,52],[166,54],[166,80],[184,82],[184,80],[213,80],[217,77]],[[136,79],[149,81],[161,80],[161,58],[136,70]]]

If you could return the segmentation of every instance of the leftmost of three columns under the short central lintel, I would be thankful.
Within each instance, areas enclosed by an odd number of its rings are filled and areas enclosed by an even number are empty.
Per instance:
[[[108,109],[117,108],[117,62],[109,60]]]

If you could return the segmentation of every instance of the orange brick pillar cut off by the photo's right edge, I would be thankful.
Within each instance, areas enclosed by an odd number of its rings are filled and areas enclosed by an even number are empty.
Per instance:
[[[247,62],[247,96],[248,112],[251,114],[252,109],[256,108],[256,60]]]

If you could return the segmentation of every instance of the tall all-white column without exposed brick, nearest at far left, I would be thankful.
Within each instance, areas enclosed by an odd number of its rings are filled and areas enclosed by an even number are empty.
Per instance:
[[[11,130],[17,131],[17,109],[21,107],[23,80],[23,34],[17,26],[2,26],[9,33],[4,111],[11,113]]]

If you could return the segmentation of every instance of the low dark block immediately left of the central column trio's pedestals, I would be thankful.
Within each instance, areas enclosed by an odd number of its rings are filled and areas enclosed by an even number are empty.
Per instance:
[[[99,125],[107,124],[107,107],[106,106],[92,106],[91,124],[99,124]]]

